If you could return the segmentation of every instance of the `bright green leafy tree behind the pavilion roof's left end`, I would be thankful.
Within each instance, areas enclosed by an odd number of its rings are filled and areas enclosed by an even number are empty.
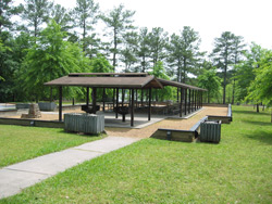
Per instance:
[[[40,33],[36,44],[28,49],[20,78],[24,90],[36,99],[48,97],[45,82],[90,67],[81,48],[64,38],[65,33],[61,31],[61,26],[51,21]]]

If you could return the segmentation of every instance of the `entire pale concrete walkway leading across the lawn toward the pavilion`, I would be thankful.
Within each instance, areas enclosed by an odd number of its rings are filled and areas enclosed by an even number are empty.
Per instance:
[[[138,141],[136,138],[107,137],[0,169],[0,199],[17,194],[58,173]]]

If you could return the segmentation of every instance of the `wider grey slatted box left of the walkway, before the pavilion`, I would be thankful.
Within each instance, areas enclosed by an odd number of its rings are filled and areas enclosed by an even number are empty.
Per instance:
[[[104,130],[104,116],[95,114],[64,114],[64,130],[84,133],[101,133]]]

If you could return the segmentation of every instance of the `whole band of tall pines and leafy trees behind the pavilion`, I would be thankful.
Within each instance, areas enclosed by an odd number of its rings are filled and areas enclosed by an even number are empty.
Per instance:
[[[137,28],[134,14],[123,4],[103,12],[94,0],[76,0],[71,10],[49,0],[16,7],[0,0],[0,101],[48,99],[57,93],[44,82],[71,72],[122,69],[206,88],[208,102],[271,102],[271,50],[256,43],[246,49],[242,36],[224,31],[208,54],[199,50],[201,38],[190,26],[178,34]],[[98,24],[104,31],[98,31]],[[264,78],[264,92],[256,92]],[[176,98],[173,88],[166,90],[160,100]],[[79,88],[67,91],[71,97],[83,93]]]

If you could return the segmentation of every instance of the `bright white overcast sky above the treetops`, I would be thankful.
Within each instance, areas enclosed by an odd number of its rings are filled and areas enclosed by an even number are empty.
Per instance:
[[[73,8],[76,0],[54,0]],[[255,41],[272,49],[272,0],[95,0],[107,12],[119,4],[136,11],[137,27],[162,27],[170,35],[184,26],[199,33],[201,51],[211,52],[214,38],[223,31],[243,36],[246,43]]]

